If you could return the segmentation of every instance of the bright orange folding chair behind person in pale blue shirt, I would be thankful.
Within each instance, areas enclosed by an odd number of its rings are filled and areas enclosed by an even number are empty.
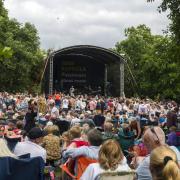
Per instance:
[[[65,179],[64,173],[68,174],[70,176],[70,179],[73,180],[79,180],[80,177],[82,176],[83,172],[86,170],[86,168],[88,167],[89,164],[91,163],[96,163],[97,160],[96,159],[90,159],[87,157],[78,157],[76,159],[76,173],[73,174],[72,173],[72,169],[69,168],[69,164],[71,164],[71,162],[66,162],[65,164],[61,165],[60,168],[62,169],[63,173],[62,173],[62,179]]]

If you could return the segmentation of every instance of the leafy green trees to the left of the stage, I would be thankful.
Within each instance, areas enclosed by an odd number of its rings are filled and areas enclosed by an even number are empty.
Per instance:
[[[0,10],[0,91],[32,91],[44,63],[37,30],[9,19],[1,0]]]

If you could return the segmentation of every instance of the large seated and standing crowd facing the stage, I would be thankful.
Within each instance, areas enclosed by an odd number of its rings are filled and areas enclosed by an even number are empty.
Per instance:
[[[0,93],[0,157],[42,157],[81,180],[133,172],[138,180],[180,179],[180,108],[175,101],[88,95]],[[63,169],[63,168],[62,168]],[[62,173],[63,178],[69,175]]]

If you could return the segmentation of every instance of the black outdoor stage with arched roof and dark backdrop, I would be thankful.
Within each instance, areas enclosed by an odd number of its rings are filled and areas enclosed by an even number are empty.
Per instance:
[[[43,90],[123,96],[124,59],[96,46],[72,46],[52,52],[46,60]]]

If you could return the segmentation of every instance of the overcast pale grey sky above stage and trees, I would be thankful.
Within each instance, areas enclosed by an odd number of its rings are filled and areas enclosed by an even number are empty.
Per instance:
[[[161,0],[6,0],[9,15],[31,22],[38,29],[42,48],[71,45],[114,47],[124,38],[124,29],[146,24],[153,34],[162,34],[168,20],[159,14]]]

